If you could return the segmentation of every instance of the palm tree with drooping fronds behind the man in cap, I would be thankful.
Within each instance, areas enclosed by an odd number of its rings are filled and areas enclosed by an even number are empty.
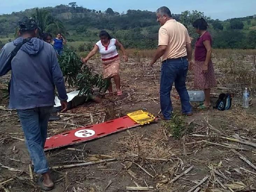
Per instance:
[[[57,19],[55,19],[51,13],[45,9],[36,8],[36,13],[32,15],[37,22],[38,27],[42,30],[42,32],[49,32],[52,34],[63,33],[67,34],[67,31],[63,25],[63,23]]]

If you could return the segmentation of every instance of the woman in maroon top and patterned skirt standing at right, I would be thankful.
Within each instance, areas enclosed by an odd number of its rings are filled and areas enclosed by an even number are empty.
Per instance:
[[[212,63],[212,37],[207,31],[208,24],[201,18],[193,23],[193,27],[200,35],[195,43],[194,85],[205,92],[205,101],[199,109],[211,107],[210,92],[215,87],[216,78]]]

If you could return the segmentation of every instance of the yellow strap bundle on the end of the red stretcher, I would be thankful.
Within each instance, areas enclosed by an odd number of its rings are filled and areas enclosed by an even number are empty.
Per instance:
[[[127,116],[140,125],[149,124],[155,120],[155,116],[153,114],[142,110],[128,113]]]

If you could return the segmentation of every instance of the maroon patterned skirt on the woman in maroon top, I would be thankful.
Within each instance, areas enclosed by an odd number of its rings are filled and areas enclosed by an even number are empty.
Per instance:
[[[216,87],[216,77],[212,61],[208,64],[208,72],[202,72],[204,61],[195,61],[194,64],[194,86],[196,89],[208,89]]]

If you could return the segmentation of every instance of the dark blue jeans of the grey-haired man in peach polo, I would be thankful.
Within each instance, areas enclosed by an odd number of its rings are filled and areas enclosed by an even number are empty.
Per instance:
[[[160,105],[166,120],[170,120],[172,116],[171,90],[173,83],[175,83],[175,88],[179,93],[183,114],[192,113],[189,94],[186,88],[188,65],[187,59],[180,59],[178,61],[166,60],[162,63]]]

